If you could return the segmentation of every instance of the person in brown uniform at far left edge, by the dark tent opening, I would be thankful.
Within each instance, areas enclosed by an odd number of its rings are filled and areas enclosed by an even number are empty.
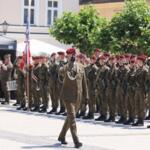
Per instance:
[[[11,62],[11,55],[4,55],[4,63],[1,64],[1,87],[4,92],[5,101],[2,104],[8,104],[10,100],[10,92],[7,91],[7,81],[11,80],[13,64]]]

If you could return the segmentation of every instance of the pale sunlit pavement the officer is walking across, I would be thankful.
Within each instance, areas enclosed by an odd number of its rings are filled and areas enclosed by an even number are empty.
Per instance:
[[[0,105],[0,150],[72,150],[74,144],[70,131],[62,146],[58,135],[64,116],[24,112],[11,105]],[[116,125],[115,123],[83,121],[77,119],[82,150],[148,150],[150,129]]]

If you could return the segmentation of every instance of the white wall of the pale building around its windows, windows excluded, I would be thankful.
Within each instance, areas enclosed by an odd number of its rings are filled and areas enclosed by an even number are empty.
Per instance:
[[[31,39],[37,39],[44,42],[52,43],[56,46],[66,47],[53,37],[48,35],[47,26],[47,1],[48,0],[37,0],[35,25],[38,27],[31,27]],[[78,12],[79,11],[79,0],[58,0],[58,17],[61,17],[64,11]],[[23,3],[24,0],[0,0],[0,24],[5,20],[8,24],[8,33],[6,36],[16,39],[18,42],[22,42],[25,39],[25,26],[23,25]],[[11,26],[11,25],[19,26]],[[21,25],[21,26],[20,26]],[[32,34],[41,33],[41,34]],[[0,34],[2,34],[2,25],[0,26]]]

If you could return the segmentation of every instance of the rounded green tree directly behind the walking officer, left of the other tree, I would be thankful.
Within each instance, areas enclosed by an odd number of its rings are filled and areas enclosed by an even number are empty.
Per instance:
[[[72,44],[90,55],[99,45],[98,37],[106,24],[106,19],[101,18],[92,6],[86,6],[79,14],[64,13],[50,28],[50,33],[58,41]]]

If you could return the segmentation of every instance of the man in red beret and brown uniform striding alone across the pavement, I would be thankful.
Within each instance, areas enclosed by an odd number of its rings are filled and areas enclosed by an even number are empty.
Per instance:
[[[70,128],[75,147],[79,148],[82,146],[82,143],[79,141],[77,136],[75,117],[79,109],[83,93],[85,93],[85,97],[87,99],[89,97],[84,67],[83,65],[75,62],[75,53],[74,48],[67,50],[69,62],[60,69],[60,73],[64,74],[61,97],[63,98],[67,109],[67,118],[58,140],[62,144],[67,144],[65,137],[68,129]]]

